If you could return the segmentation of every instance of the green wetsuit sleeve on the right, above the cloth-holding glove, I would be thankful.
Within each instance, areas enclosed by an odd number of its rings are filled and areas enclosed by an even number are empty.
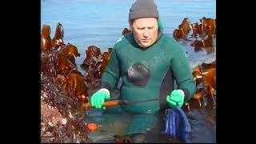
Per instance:
[[[178,90],[183,90],[185,94],[185,102],[190,100],[195,94],[196,86],[195,81],[190,70],[190,65],[185,57],[182,48],[176,44],[174,58],[171,60],[171,69],[174,74],[175,81],[178,85]]]

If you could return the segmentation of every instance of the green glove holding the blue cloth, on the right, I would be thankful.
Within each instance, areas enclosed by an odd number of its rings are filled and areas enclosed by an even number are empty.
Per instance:
[[[167,95],[166,101],[170,107],[182,107],[184,103],[185,94],[182,90],[173,90],[170,95]]]

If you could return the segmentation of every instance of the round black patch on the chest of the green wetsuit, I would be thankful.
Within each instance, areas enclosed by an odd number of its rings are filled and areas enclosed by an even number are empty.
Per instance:
[[[128,80],[134,86],[145,87],[150,79],[150,69],[142,63],[136,63],[128,69]]]

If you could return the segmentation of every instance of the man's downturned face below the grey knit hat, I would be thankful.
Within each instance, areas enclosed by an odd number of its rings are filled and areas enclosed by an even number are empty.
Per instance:
[[[130,29],[134,34],[135,42],[143,48],[154,44],[158,37],[158,21],[157,18],[138,18],[133,24],[130,24]]]

